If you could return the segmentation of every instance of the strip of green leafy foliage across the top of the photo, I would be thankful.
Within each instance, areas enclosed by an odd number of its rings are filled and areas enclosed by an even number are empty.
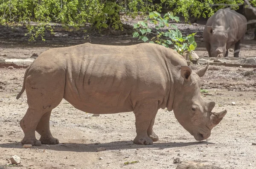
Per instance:
[[[0,0],[0,24],[23,25],[31,40],[44,33],[54,33],[53,23],[75,28],[86,23],[98,29],[112,27],[122,30],[119,12],[135,18],[138,12],[160,12],[163,6],[173,13],[189,17],[210,17],[219,8],[237,9],[243,0]],[[250,0],[256,4],[256,0]]]

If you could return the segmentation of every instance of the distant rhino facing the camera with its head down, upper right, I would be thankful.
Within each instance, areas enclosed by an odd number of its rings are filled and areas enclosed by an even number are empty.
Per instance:
[[[246,29],[247,20],[242,14],[230,8],[219,9],[209,17],[203,32],[209,57],[227,57],[232,45],[235,45],[234,57],[239,57]]]

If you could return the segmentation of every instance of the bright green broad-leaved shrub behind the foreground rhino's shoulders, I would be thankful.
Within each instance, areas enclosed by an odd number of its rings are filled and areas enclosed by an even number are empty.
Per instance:
[[[156,32],[153,32],[150,28],[148,28],[147,21],[150,20],[150,23],[155,25]],[[193,34],[188,35],[187,37],[183,37],[180,30],[176,25],[170,24],[169,20],[175,20],[179,22],[179,17],[176,17],[172,14],[172,12],[166,13],[163,17],[154,11],[150,12],[149,16],[145,19],[145,21],[139,21],[134,24],[133,37],[139,37],[139,40],[143,40],[144,42],[148,41],[148,35],[153,34],[154,37],[151,38],[149,43],[157,43],[159,45],[163,45],[166,48],[173,45],[174,50],[179,54],[183,54],[184,51],[192,51],[195,50],[197,44],[195,42],[195,38]],[[174,29],[168,29],[168,31],[164,31],[165,27],[169,27]]]

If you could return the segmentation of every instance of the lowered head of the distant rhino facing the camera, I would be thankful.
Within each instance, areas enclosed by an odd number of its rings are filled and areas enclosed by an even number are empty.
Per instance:
[[[211,26],[207,26],[207,32],[210,34],[212,57],[225,56],[229,30],[230,27],[225,29],[223,26],[219,26],[213,29]]]

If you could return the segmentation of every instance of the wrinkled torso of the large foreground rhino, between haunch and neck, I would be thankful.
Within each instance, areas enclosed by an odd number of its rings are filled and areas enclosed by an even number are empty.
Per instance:
[[[149,43],[86,43],[57,48],[51,58],[66,61],[60,63],[60,67],[66,66],[64,99],[89,113],[119,113],[132,111],[141,100],[159,100],[159,107],[166,106],[171,86],[166,55],[170,51]],[[180,56],[175,57],[180,65]]]

